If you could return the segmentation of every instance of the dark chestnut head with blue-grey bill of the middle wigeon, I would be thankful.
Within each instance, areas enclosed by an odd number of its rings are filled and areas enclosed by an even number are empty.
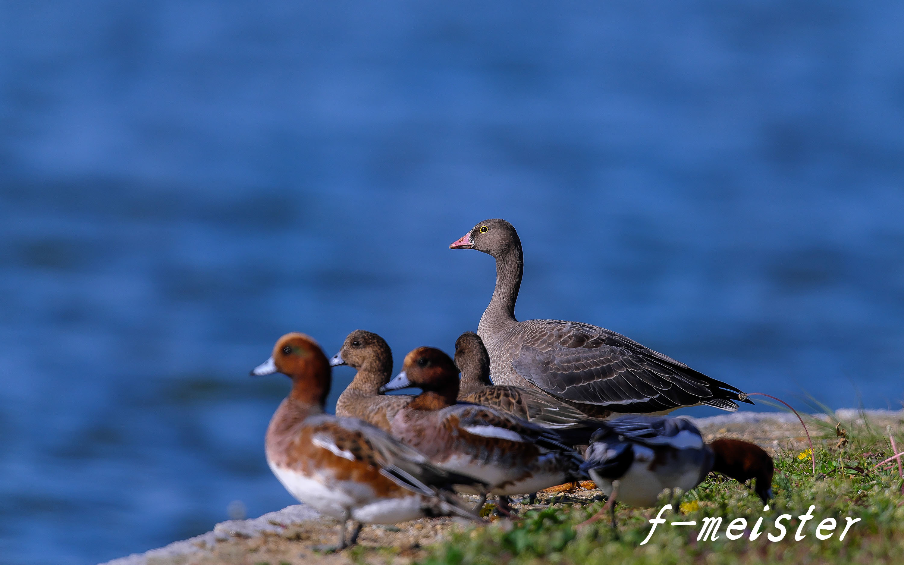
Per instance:
[[[439,410],[455,404],[458,397],[458,368],[436,347],[419,347],[405,356],[402,371],[381,387],[396,391],[418,387],[418,397],[408,405],[413,410]]]

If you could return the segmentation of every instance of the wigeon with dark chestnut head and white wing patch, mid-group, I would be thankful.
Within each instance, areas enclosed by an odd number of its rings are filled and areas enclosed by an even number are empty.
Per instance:
[[[419,387],[422,392],[392,419],[392,435],[435,465],[479,476],[488,491],[476,494],[534,493],[579,480],[580,456],[541,428],[499,410],[457,402],[458,369],[446,353],[419,347],[384,390]],[[482,504],[482,503],[481,503]],[[507,513],[507,504],[500,509]]]

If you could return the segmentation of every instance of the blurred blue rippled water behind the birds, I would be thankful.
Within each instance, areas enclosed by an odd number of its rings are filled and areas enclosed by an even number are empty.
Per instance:
[[[280,334],[517,314],[748,391],[904,398],[899,2],[0,3],[0,562],[293,503]],[[334,372],[334,402],[353,371]],[[746,410],[746,409],[745,409]],[[761,407],[757,410],[761,410]],[[715,410],[694,410],[697,415]]]

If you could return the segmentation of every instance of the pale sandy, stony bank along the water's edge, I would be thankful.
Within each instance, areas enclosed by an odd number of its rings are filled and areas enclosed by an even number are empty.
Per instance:
[[[882,429],[904,423],[904,410],[836,410],[835,419],[848,428],[870,425]],[[814,443],[834,444],[835,421],[824,414],[804,416]],[[718,437],[753,441],[773,454],[807,447],[804,429],[794,414],[784,412],[734,412],[711,418],[692,419],[708,441]],[[597,489],[569,493],[571,498],[592,500]],[[539,504],[516,503],[519,512],[549,504],[553,494],[541,495]],[[526,501],[525,501],[526,502]],[[571,504],[575,504],[572,501]],[[504,521],[501,521],[504,522]],[[334,541],[336,522],[297,504],[253,520],[218,523],[212,532],[164,548],[133,554],[105,565],[339,565],[353,562],[353,555],[369,563],[410,563],[421,556],[420,548],[441,541],[446,532],[464,527],[443,518],[416,520],[395,526],[369,526],[361,532],[360,547],[322,555],[311,550],[319,543]],[[504,527],[500,524],[495,527]],[[390,549],[391,548],[391,549]]]

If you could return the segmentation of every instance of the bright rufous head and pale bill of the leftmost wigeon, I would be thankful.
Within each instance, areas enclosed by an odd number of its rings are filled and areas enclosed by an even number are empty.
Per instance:
[[[314,338],[292,332],[280,337],[270,358],[251,370],[252,375],[281,372],[292,379],[289,398],[324,407],[332,373],[326,355]]]

